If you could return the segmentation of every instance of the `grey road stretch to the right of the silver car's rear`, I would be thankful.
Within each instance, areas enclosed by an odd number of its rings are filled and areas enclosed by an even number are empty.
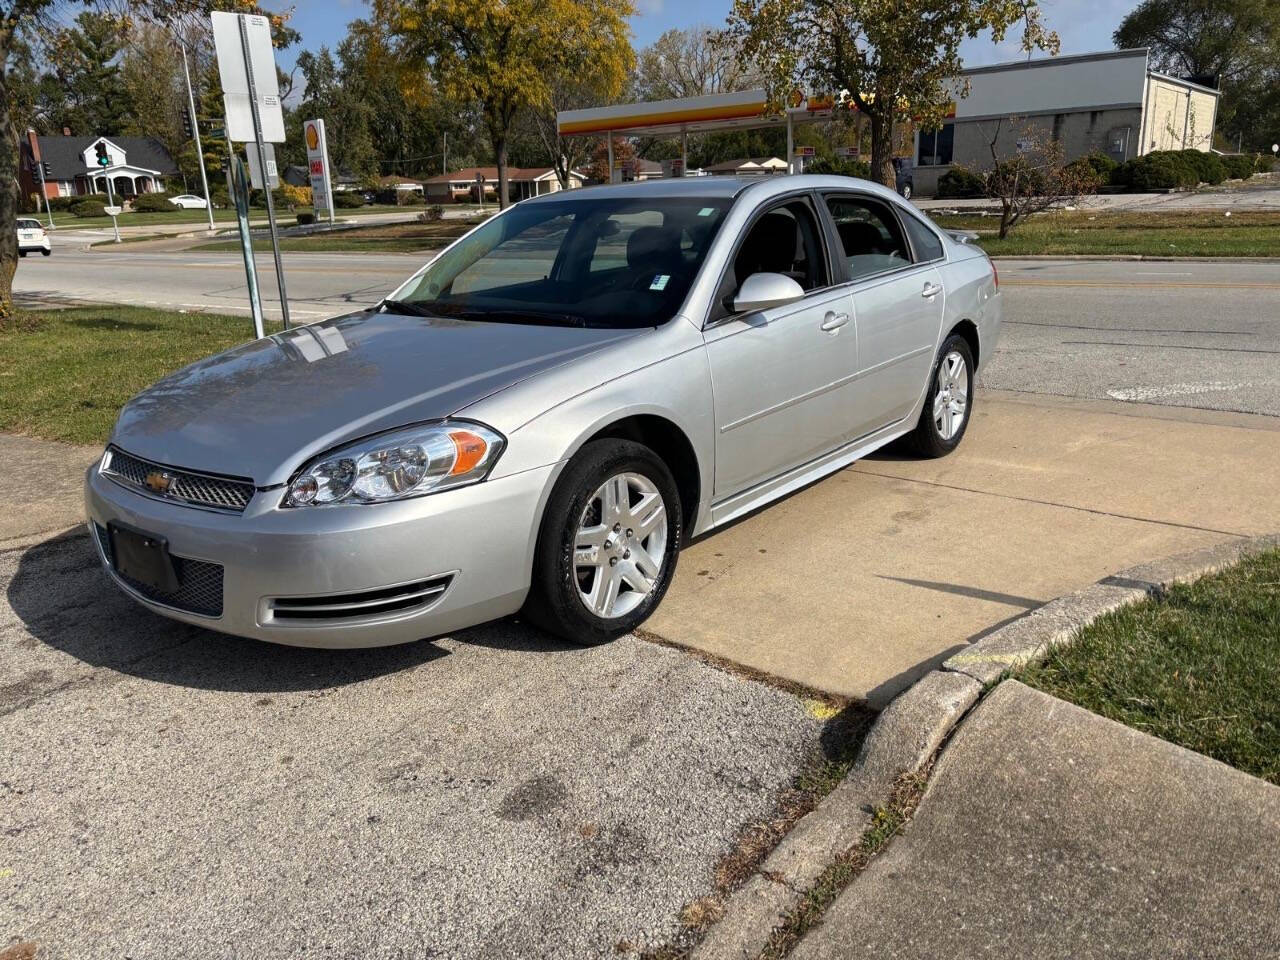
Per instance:
[[[1280,416],[1280,264],[1001,260],[987,387]]]

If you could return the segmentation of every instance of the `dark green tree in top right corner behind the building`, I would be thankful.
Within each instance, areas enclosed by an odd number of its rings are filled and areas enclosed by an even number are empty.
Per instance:
[[[1219,129],[1251,148],[1270,147],[1280,127],[1280,3],[1144,0],[1112,38],[1119,47],[1149,47],[1164,73],[1216,78]]]

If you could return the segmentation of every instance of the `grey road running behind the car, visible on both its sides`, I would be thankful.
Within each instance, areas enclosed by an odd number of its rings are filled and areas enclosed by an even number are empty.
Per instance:
[[[424,257],[284,253],[289,305],[302,321],[374,303]],[[276,315],[270,257],[260,289]],[[984,384],[1092,399],[1280,416],[1280,264],[1000,261],[1006,326]],[[247,312],[230,253],[86,252],[20,261],[19,302],[97,300]]]

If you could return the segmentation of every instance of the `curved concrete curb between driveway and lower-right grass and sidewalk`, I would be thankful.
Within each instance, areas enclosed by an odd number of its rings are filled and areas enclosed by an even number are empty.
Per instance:
[[[840,854],[870,826],[893,782],[920,771],[983,691],[1007,671],[1038,660],[1103,613],[1162,595],[1240,558],[1280,547],[1280,534],[1206,547],[1129,567],[978,640],[900,694],[876,719],[849,776],[803,817],[760,872],[735,891],[692,960],[756,960],[773,929]]]

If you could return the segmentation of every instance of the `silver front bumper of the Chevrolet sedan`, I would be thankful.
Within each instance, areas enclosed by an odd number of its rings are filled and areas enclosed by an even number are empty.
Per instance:
[[[148,497],[99,474],[84,477],[84,504],[99,559],[115,584],[174,620],[297,646],[356,648],[410,643],[515,613],[529,593],[543,504],[557,465],[398,503],[282,509],[283,489],[259,490],[243,513]],[[183,566],[220,571],[220,613],[184,599],[147,595],[113,568],[108,524],[164,536]],[[410,609],[311,613],[292,620],[276,600],[326,607],[399,585],[447,584]],[[207,594],[209,582],[204,584]],[[200,604],[197,604],[200,605]],[[375,604],[376,605],[376,604]],[[315,618],[315,617],[321,618]]]

